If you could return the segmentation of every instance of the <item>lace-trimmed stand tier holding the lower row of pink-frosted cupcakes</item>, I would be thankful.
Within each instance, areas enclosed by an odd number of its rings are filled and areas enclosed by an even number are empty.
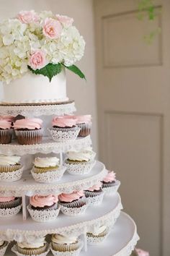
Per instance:
[[[55,233],[80,236],[102,225],[112,226],[120,216],[120,210],[122,210],[121,198],[118,193],[115,193],[112,196],[104,195],[101,205],[89,205],[81,215],[65,216],[60,212],[56,220],[46,223],[33,221],[30,217],[23,221],[22,215],[17,214],[11,218],[0,218],[0,237],[8,241],[29,242],[30,236],[36,239],[36,237]]]

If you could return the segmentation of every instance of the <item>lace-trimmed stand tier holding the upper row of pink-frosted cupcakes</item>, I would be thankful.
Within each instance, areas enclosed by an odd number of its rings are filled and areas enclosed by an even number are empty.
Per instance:
[[[43,137],[42,143],[35,145],[19,145],[16,141],[9,144],[0,144],[0,154],[27,155],[36,153],[65,153],[69,150],[81,150],[81,148],[89,147],[90,145],[90,135],[66,142],[55,142],[50,137]]]

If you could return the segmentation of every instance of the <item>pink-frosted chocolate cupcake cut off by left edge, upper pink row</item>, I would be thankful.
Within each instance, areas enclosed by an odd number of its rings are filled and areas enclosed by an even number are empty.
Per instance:
[[[12,142],[12,122],[0,119],[0,144]]]

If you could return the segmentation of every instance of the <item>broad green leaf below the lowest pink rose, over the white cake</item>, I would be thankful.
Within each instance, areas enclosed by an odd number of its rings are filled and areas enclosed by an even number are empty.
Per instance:
[[[45,67],[42,67],[42,69],[32,69],[30,66],[28,66],[28,69],[30,69],[30,71],[33,74],[42,74],[45,77],[48,77],[49,80],[51,81],[52,78],[56,75],[59,74],[61,72],[61,63],[58,64],[52,64],[49,63],[47,64]]]

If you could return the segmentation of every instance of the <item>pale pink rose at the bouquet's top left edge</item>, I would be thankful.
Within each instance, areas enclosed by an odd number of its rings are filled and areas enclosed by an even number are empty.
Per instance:
[[[19,14],[17,15],[17,18],[22,23],[37,22],[39,20],[39,17],[37,16],[34,10],[19,12]]]

